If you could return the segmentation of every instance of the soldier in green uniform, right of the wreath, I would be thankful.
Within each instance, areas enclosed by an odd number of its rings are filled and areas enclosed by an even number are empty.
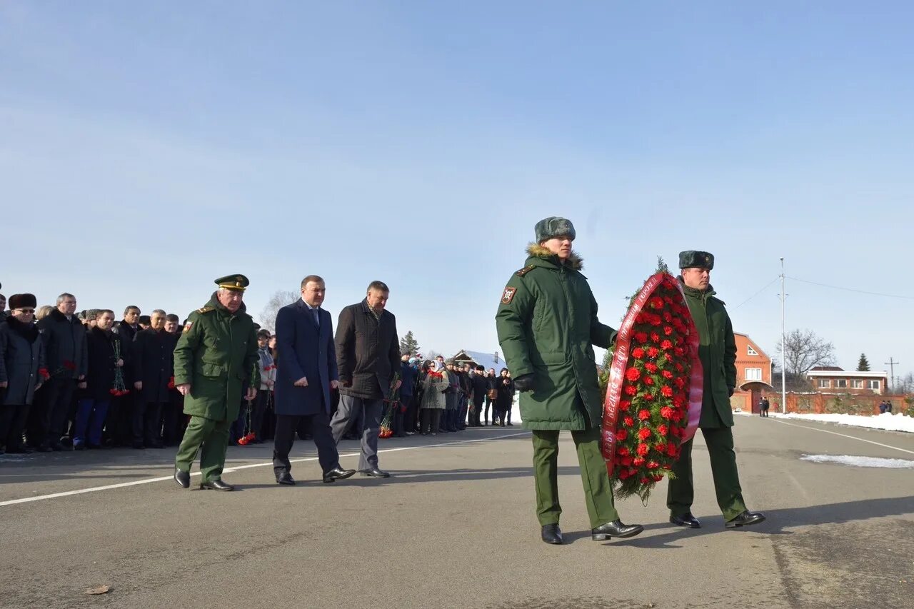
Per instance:
[[[724,302],[714,297],[711,287],[711,269],[714,256],[707,251],[682,251],[679,253],[679,282],[698,329],[698,356],[705,371],[705,390],[698,426],[707,444],[711,458],[711,474],[717,505],[724,514],[726,527],[733,529],[757,524],[765,519],[760,512],[750,512],[742,498],[737,472],[737,455],[733,451],[733,412],[730,396],[737,385],[737,345],[733,326]],[[701,523],[692,516],[692,441],[684,443],[679,460],[673,467],[675,478],[669,482],[666,507],[670,509],[670,522],[698,529]]]

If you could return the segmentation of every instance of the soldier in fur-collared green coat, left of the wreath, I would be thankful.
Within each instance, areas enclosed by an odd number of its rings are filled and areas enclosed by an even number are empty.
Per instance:
[[[558,432],[569,430],[578,451],[591,539],[632,537],[643,527],[619,519],[600,454],[602,400],[591,347],[610,347],[616,332],[597,318],[597,301],[580,272],[581,259],[571,251],[571,222],[542,219],[535,232],[526,266],[511,276],[502,293],[495,324],[515,388],[521,392],[523,427],[533,432],[540,535],[547,543],[562,542]]]

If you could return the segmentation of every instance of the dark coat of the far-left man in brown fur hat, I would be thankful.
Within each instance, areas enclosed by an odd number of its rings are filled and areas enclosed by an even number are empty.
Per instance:
[[[25,406],[32,403],[35,387],[45,368],[45,344],[35,324],[23,324],[13,315],[0,323],[0,382],[6,382],[3,403]],[[4,390],[0,390],[3,395]]]

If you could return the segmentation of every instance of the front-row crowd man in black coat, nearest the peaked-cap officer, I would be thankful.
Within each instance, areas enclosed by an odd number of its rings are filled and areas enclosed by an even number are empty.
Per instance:
[[[159,425],[168,408],[168,383],[175,374],[178,335],[165,331],[165,311],[149,315],[149,329],[133,339],[133,448],[162,448]]]

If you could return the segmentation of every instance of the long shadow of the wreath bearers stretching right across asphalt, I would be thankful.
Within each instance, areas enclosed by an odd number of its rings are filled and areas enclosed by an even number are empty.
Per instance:
[[[794,531],[786,530],[795,527],[816,525],[844,524],[869,518],[902,516],[914,513],[914,497],[890,497],[887,499],[863,499],[846,503],[832,503],[824,506],[806,508],[771,509],[765,512],[764,522],[752,527],[724,529],[724,519],[715,516],[700,516],[701,529],[681,529],[665,523],[645,525],[645,530],[669,529],[667,532],[648,537],[636,537],[630,540],[612,540],[611,543],[624,543],[632,548],[661,549],[679,548],[675,542],[684,537],[701,537],[721,532],[737,534],[740,532],[764,533],[766,535],[793,535]],[[576,537],[577,536],[577,537]],[[590,531],[566,533],[567,540],[590,537]]]

